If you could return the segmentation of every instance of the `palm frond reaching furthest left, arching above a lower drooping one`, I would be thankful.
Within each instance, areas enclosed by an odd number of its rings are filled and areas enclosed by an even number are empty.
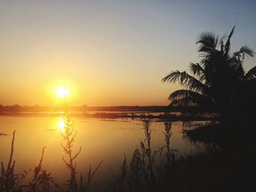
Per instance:
[[[165,76],[162,81],[179,82],[185,88],[189,89],[189,91],[195,91],[200,93],[204,93],[207,89],[206,85],[197,80],[195,77],[187,74],[187,72],[179,72],[178,70],[167,74],[167,76]]]

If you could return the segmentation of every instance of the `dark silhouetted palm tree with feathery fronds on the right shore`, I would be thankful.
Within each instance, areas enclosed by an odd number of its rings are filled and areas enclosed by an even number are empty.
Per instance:
[[[177,70],[162,79],[163,82],[179,82],[185,87],[170,94],[170,106],[187,107],[185,115],[226,115],[233,111],[234,100],[241,102],[238,96],[238,92],[243,92],[238,91],[241,85],[255,85],[256,68],[244,74],[242,66],[245,55],[252,57],[254,52],[243,46],[238,52],[230,53],[234,28],[227,37],[220,39],[211,33],[200,35],[196,43],[202,59],[189,66],[195,77]]]

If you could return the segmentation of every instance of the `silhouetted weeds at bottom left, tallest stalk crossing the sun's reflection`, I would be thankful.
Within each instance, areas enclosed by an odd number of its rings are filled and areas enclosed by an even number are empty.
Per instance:
[[[17,174],[15,172],[15,160],[13,160],[14,146],[15,146],[15,131],[12,135],[12,145],[10,158],[7,166],[1,162],[1,174],[0,174],[0,192],[14,192],[14,191],[29,191],[29,192],[47,192],[47,191],[69,191],[69,192],[82,192],[89,191],[91,180],[96,174],[99,166],[103,161],[100,161],[95,169],[91,168],[91,164],[89,165],[89,171],[87,173],[87,178],[84,180],[83,174],[80,174],[78,178],[78,172],[76,170],[76,161],[78,155],[81,152],[81,147],[78,152],[75,153],[75,149],[73,148],[73,144],[75,142],[75,137],[77,131],[74,129],[74,121],[69,117],[68,113],[65,112],[64,117],[64,131],[61,132],[61,137],[63,140],[61,142],[61,147],[66,154],[62,157],[64,161],[64,165],[69,170],[69,179],[65,183],[65,187],[60,186],[53,180],[51,173],[48,170],[43,169],[42,163],[44,158],[44,153],[46,147],[42,149],[42,155],[34,169],[30,169],[29,171],[24,171],[23,173]],[[29,158],[29,157],[28,157]],[[24,183],[24,180],[27,179],[29,182]]]

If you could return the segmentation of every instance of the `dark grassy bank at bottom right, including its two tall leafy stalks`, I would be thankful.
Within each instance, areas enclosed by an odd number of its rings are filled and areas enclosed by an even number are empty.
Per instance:
[[[140,141],[140,147],[135,148],[131,161],[128,162],[125,157],[120,173],[113,173],[113,180],[110,182],[113,192],[248,191],[253,187],[254,177],[249,175],[254,174],[255,167],[252,159],[254,139],[241,134],[241,131],[238,134],[238,129],[234,127],[237,123],[228,128],[229,137],[226,137],[225,142],[209,142],[205,153],[189,155],[186,158],[177,158],[176,150],[171,147],[170,122],[164,123],[165,146],[154,151],[151,149],[150,120],[143,120],[142,124],[145,138]],[[212,128],[218,125],[210,124],[208,131],[213,133]],[[202,128],[206,127],[200,127],[189,134],[201,138]],[[200,134],[196,134],[197,131]],[[214,135],[216,134],[215,132]]]

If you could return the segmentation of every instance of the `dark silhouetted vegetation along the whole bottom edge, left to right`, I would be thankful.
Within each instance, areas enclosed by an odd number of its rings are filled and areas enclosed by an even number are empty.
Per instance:
[[[75,159],[78,158],[82,150],[79,148],[75,152],[75,149],[72,149],[76,132],[72,119],[67,118],[65,122],[67,123],[67,130],[62,132],[62,137],[64,137],[62,147],[66,155],[63,157],[63,161],[70,173],[66,186],[59,186],[53,180],[50,172],[43,169],[45,147],[42,149],[42,156],[34,169],[21,174],[15,173],[14,132],[10,159],[7,165],[1,163],[1,192],[94,191],[90,183],[102,162],[94,170],[90,167],[86,180],[83,179],[83,174],[77,174]],[[230,131],[226,131],[225,138],[216,137],[217,132],[214,130],[218,130],[218,128],[231,130],[231,128],[222,128],[226,125],[218,123],[210,124],[207,128],[187,130],[187,136],[192,141],[200,140],[198,136],[201,134],[203,136],[201,138],[205,139],[203,142],[208,142],[208,145],[206,145],[205,153],[183,158],[178,157],[178,152],[171,145],[172,123],[169,121],[163,123],[165,129],[162,136],[165,139],[165,145],[153,149],[151,147],[151,120],[149,118],[142,120],[145,137],[140,140],[139,147],[134,150],[132,158],[127,158],[124,155],[120,172],[112,172],[112,179],[106,178],[109,180],[109,188],[104,188],[104,191],[230,191],[244,190],[249,187],[252,178],[247,175],[252,169],[253,163],[252,160],[246,158],[246,155],[253,153],[253,147],[248,147],[252,146],[253,142],[249,137],[245,137],[246,134],[230,134]],[[235,124],[230,126],[233,127]],[[213,138],[215,139],[208,138],[207,133],[211,136],[214,134]],[[238,139],[240,139],[239,143],[237,142]],[[128,159],[131,160],[128,161]],[[27,177],[30,180],[24,183],[23,181]],[[97,184],[100,185],[100,183]]]

